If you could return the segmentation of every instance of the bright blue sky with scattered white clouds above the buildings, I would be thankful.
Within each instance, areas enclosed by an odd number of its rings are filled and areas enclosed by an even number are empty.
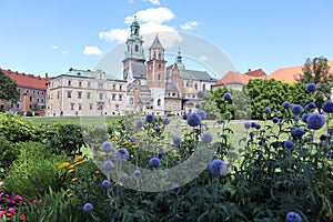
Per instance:
[[[332,0],[0,0],[0,68],[34,75],[94,69],[122,49],[134,14],[142,34],[175,33],[161,43],[174,54],[180,48],[188,69],[198,69],[186,58],[199,49],[201,64],[224,65],[195,39],[219,49],[240,72],[271,74],[306,58],[333,60]],[[178,33],[194,37],[191,49]],[[219,77],[225,69],[213,68]]]

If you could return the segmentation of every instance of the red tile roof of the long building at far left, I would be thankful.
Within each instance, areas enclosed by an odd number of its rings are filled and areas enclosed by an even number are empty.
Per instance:
[[[1,69],[2,70],[2,69]],[[11,70],[2,70],[4,74],[17,81],[20,88],[29,88],[36,90],[47,90],[47,81],[51,78],[34,77],[33,74],[19,73]]]

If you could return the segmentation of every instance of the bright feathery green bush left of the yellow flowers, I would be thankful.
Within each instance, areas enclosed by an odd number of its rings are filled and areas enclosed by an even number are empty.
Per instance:
[[[17,145],[20,154],[6,175],[6,190],[27,198],[41,198],[49,186],[56,189],[57,168],[68,158],[52,154],[49,147],[37,142]]]

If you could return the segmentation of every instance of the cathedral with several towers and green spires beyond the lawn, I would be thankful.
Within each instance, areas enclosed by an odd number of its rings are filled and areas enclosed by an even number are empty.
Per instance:
[[[202,102],[198,91],[209,91],[216,82],[205,71],[188,70],[179,50],[174,63],[167,65],[164,48],[155,36],[145,60],[140,26],[134,18],[125,42],[123,80],[127,81],[127,110],[157,115],[193,112]]]

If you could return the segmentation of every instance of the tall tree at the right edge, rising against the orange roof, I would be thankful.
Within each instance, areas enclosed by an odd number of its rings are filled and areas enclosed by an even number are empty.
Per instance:
[[[330,73],[329,60],[324,57],[306,59],[303,68],[303,75],[300,77],[302,83],[315,83],[317,89],[315,93],[315,104],[321,112],[322,104],[331,100],[331,88],[333,74]]]

